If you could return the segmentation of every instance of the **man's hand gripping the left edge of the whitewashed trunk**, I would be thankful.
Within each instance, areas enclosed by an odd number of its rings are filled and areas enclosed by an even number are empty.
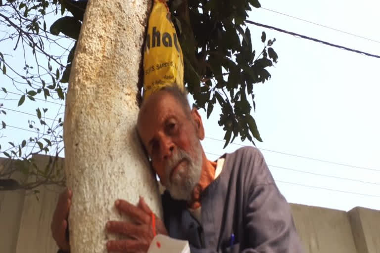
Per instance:
[[[73,193],[68,188],[59,195],[50,226],[51,234],[58,248],[67,252],[70,251],[68,237],[66,236],[66,230],[68,229],[67,217],[69,216],[72,196]]]

